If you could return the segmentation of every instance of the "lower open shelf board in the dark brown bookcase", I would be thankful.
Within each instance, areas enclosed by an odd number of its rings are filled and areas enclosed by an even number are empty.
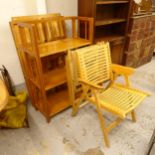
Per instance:
[[[95,38],[95,43],[97,42],[101,42],[101,41],[115,41],[115,40],[122,40],[124,39],[125,36],[122,36],[122,35],[107,35],[107,36],[104,36],[104,37],[99,37],[99,38]]]

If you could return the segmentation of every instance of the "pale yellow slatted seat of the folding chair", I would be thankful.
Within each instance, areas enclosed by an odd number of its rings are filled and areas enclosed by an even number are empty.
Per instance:
[[[101,107],[124,119],[146,97],[146,93],[115,84],[99,94]],[[92,100],[95,102],[94,97]]]

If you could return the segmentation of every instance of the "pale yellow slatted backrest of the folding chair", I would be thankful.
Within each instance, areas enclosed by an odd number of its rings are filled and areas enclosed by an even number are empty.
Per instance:
[[[93,83],[110,79],[111,58],[108,43],[100,43],[76,50],[79,76]]]

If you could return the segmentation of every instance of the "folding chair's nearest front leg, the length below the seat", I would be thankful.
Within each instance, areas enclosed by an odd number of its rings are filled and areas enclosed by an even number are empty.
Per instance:
[[[102,129],[102,132],[103,132],[103,135],[104,135],[105,144],[106,144],[107,147],[110,147],[108,131],[107,131],[106,126],[105,126],[105,120],[104,120],[101,112],[97,112],[97,113],[98,113],[98,116],[99,116],[101,129]]]

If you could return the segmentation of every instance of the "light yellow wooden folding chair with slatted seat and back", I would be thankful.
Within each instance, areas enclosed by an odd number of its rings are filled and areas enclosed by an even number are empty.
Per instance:
[[[76,115],[82,101],[89,101],[96,106],[106,146],[109,147],[108,133],[116,127],[127,114],[136,122],[134,109],[149,94],[130,87],[128,76],[134,69],[111,63],[109,43],[99,43],[68,52],[68,83],[73,115]],[[125,84],[115,82],[117,76],[125,78]],[[104,83],[109,84],[104,87]],[[76,85],[80,84],[82,93],[75,95]],[[80,92],[80,91],[79,91]],[[117,119],[109,126],[105,125],[102,110],[106,110]]]

